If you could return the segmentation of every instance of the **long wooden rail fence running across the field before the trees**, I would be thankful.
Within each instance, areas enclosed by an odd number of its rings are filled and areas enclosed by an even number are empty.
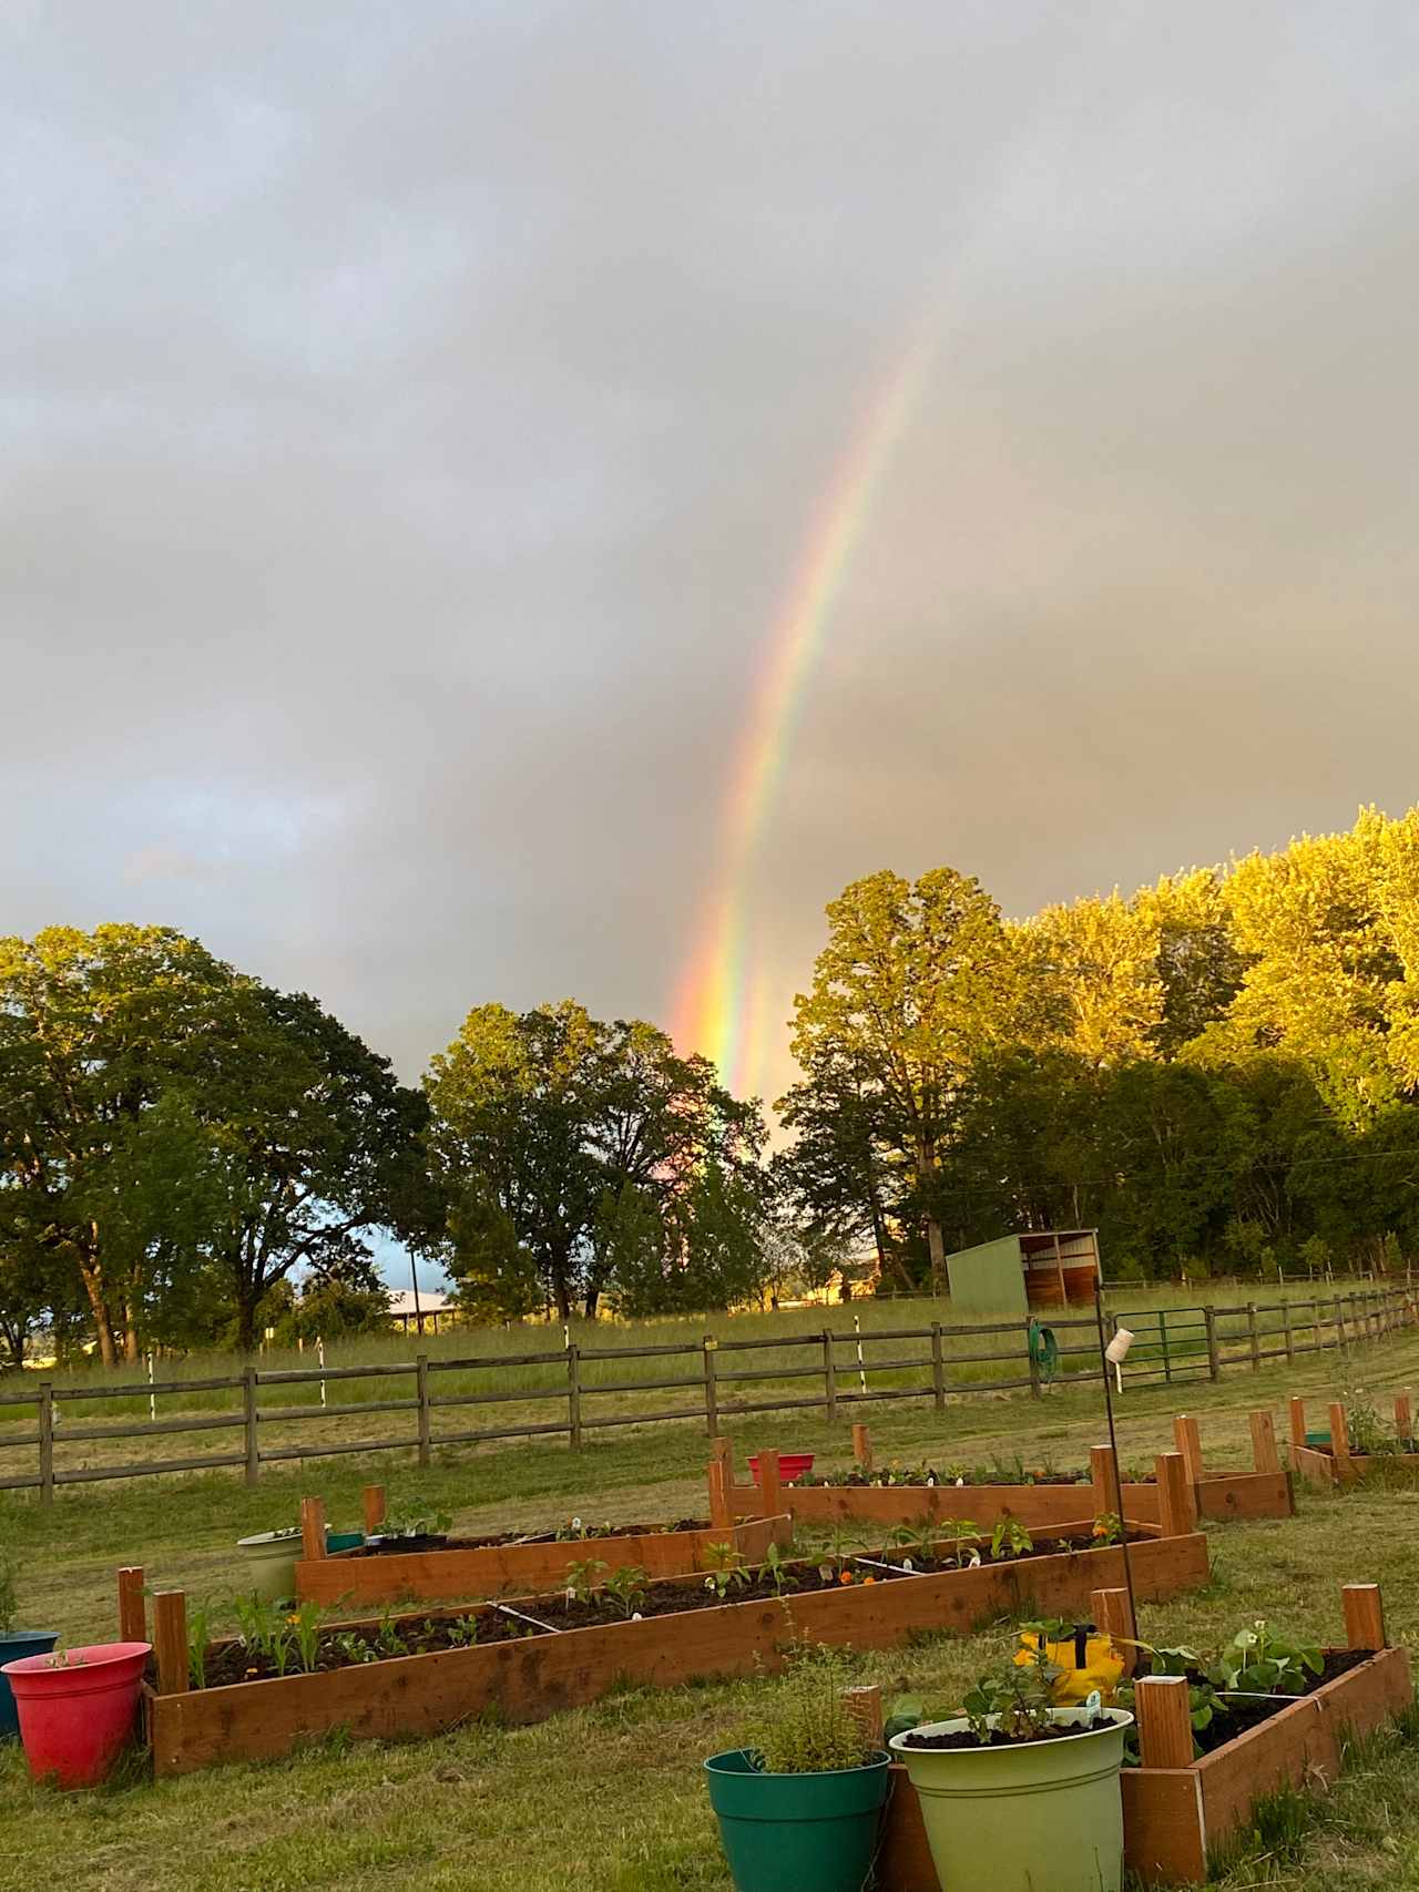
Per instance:
[[[1271,1317],[1279,1317],[1271,1319]],[[1162,1307],[1141,1313],[1118,1313],[1116,1326],[1135,1334],[1124,1385],[1130,1381],[1188,1381],[1218,1379],[1232,1368],[1258,1372],[1264,1360],[1294,1360],[1302,1353],[1349,1349],[1357,1343],[1381,1340],[1385,1334],[1419,1323],[1419,1300],[1408,1288],[1358,1288],[1349,1294],[1309,1302],[1249,1302],[1243,1307]],[[719,1434],[721,1421],[747,1413],[819,1410],[834,1419],[844,1406],[868,1406],[880,1400],[931,1400],[937,1411],[946,1398],[967,1398],[972,1393],[1044,1393],[1041,1362],[1031,1349],[1029,1321],[999,1321],[980,1326],[950,1326],[933,1321],[921,1328],[887,1328],[851,1334],[823,1328],[819,1334],[793,1334],[764,1340],[715,1340],[641,1347],[583,1347],[568,1343],[562,1349],[526,1355],[469,1355],[460,1358],[431,1358],[420,1353],[414,1360],[392,1366],[324,1366],[303,1370],[272,1370],[248,1366],[229,1377],[134,1381],[119,1385],[70,1387],[40,1379],[21,1393],[0,1393],[0,1408],[32,1406],[34,1430],[9,1432],[0,1425],[0,1453],[34,1447],[38,1468],[28,1476],[0,1478],[0,1491],[38,1491],[42,1502],[53,1502],[57,1485],[98,1483],[110,1478],[153,1478],[163,1472],[242,1470],[248,1485],[257,1483],[263,1464],[297,1459],[327,1459],[339,1453],[412,1451],[428,1464],[435,1447],[486,1444],[490,1440],[564,1436],[579,1447],[588,1432],[621,1425],[647,1425],[691,1419],[704,1423],[708,1434]],[[1088,1381],[1099,1377],[1095,1324],[1092,1317],[1063,1315],[1052,1319],[1061,1377]],[[1005,1347],[978,1351],[978,1343],[1005,1336]],[[948,1353],[946,1341],[969,1341],[972,1351]],[[885,1358],[872,1349],[882,1343],[893,1349],[908,1341],[921,1351],[904,1357],[893,1351]],[[812,1364],[776,1364],[776,1351],[797,1347],[814,1353]],[[723,1366],[721,1357],[757,1357],[759,1364]],[[672,1372],[668,1377],[590,1377],[587,1368],[617,1360],[675,1360],[694,1362],[691,1372]],[[1075,1366],[1084,1360],[1088,1364]],[[505,1368],[549,1368],[554,1385],[511,1391],[441,1391],[448,1374],[473,1374]],[[990,1377],[974,1379],[961,1368],[999,1368]],[[908,1383],[884,1385],[885,1375],[921,1374]],[[868,1379],[876,1377],[876,1385]],[[395,1398],[369,1402],[324,1404],[325,1383],[350,1379],[412,1379],[414,1391]],[[785,1381],[814,1381],[806,1393],[783,1393]],[[261,1404],[261,1393],[320,1385],[322,1404],[288,1406]],[[761,1396],[736,1396],[738,1389],[757,1389]],[[236,1393],[236,1408],[227,1413],[201,1413],[182,1419],[157,1419],[159,1398],[182,1398],[191,1393]],[[605,1396],[638,1393],[692,1394],[683,1404],[634,1408],[630,1411],[596,1411],[594,1402]],[[70,1402],[96,1398],[146,1400],[149,1417],[136,1415],[96,1425],[70,1425],[62,1408]],[[433,1430],[433,1415],[460,1406],[552,1406],[554,1419],[526,1413],[501,1415],[507,1423]],[[297,1425],[310,1419],[356,1419],[365,1413],[409,1413],[411,1425],[397,1438],[359,1438],[327,1444],[293,1445],[263,1444],[261,1427]],[[490,1417],[498,1417],[490,1413]],[[182,1432],[240,1430],[240,1449],[204,1453],[191,1459],[146,1459],[129,1464],[57,1466],[55,1444],[68,1445],[87,1440],[157,1438]]]

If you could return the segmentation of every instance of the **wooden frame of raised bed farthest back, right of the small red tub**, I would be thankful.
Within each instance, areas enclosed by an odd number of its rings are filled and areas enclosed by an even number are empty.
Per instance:
[[[1078,1517],[1080,1508],[1094,1506],[1095,1515],[1118,1512],[1137,1523],[1181,1533],[1196,1529],[1200,1517],[1290,1517],[1296,1500],[1290,1474],[1281,1470],[1271,1415],[1253,1413],[1251,1430],[1256,1470],[1209,1472],[1201,1459],[1198,1421],[1181,1413],[1173,1421],[1173,1436],[1188,1493],[1184,1506],[1171,1508],[1160,1470],[1152,1483],[1124,1483],[1122,1491],[1114,1491],[1112,1459],[1103,1445],[1090,1453],[1090,1481],[1078,1485],[783,1485],[776,1472],[778,1453],[759,1455],[759,1485],[736,1485],[728,1440],[717,1440],[710,1468],[710,1515],[728,1521],[759,1515],[764,1506],[772,1506],[802,1523],[861,1523],[870,1531],[889,1531],[942,1517],[974,1517],[978,1525],[993,1525],[1008,1514],[1027,1531],[1048,1531]],[[853,1451],[859,1464],[870,1466],[872,1449],[865,1425],[853,1427]],[[1171,1457],[1160,1453],[1156,1466]],[[1169,1489],[1175,1487],[1169,1483]]]

